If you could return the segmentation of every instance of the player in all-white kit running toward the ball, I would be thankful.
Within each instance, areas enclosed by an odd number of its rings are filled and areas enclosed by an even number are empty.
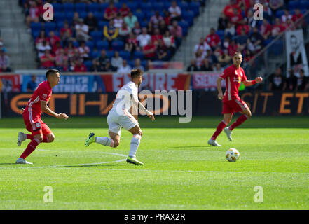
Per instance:
[[[144,165],[135,158],[139,142],[141,141],[143,132],[137,122],[137,109],[144,111],[151,120],[154,120],[153,113],[148,111],[144,105],[139,102],[138,88],[142,83],[143,72],[141,69],[131,70],[131,80],[121,87],[117,92],[113,108],[107,116],[109,124],[109,137],[96,137],[95,133],[90,133],[85,140],[85,146],[89,146],[92,142],[116,148],[120,143],[121,127],[125,128],[133,134],[130,143],[130,153],[127,158],[128,163],[135,165]],[[129,113],[129,111],[133,111]]]

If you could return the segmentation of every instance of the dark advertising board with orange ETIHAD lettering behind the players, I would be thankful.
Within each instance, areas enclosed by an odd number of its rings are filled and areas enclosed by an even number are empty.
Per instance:
[[[170,92],[168,92],[170,93]],[[155,115],[181,114],[179,108],[179,92],[176,97],[172,94],[139,94],[141,102],[149,100],[156,106]],[[13,93],[1,94],[1,114],[4,117],[20,116],[20,109],[27,105],[32,94]],[[53,111],[61,111],[69,116],[107,116],[112,107],[116,93],[55,93],[48,105]],[[187,94],[184,97],[184,109],[186,109]],[[308,92],[241,92],[240,97],[247,103],[254,115],[309,115]],[[176,109],[175,109],[176,108]],[[217,92],[192,92],[193,116],[218,116],[221,114],[222,104],[217,99]]]

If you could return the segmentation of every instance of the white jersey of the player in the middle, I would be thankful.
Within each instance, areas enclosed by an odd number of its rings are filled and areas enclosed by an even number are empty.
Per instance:
[[[116,99],[111,111],[129,111],[132,106],[131,95],[133,95],[135,99],[138,99],[137,85],[135,85],[135,83],[133,83],[132,81],[123,85],[123,87],[121,87],[121,89],[117,92]]]

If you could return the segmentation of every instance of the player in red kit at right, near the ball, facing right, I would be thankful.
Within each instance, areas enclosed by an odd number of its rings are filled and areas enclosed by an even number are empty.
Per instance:
[[[262,77],[257,77],[255,80],[247,80],[244,69],[240,67],[242,62],[242,54],[235,52],[233,55],[233,65],[229,66],[217,79],[218,98],[222,99],[224,119],[219,123],[216,132],[212,135],[212,138],[208,141],[211,146],[221,146],[217,143],[216,138],[224,129],[226,136],[232,141],[232,130],[238,125],[241,125],[245,120],[251,117],[251,111],[247,104],[238,96],[238,89],[240,83],[244,83],[245,86],[261,83]],[[226,92],[222,94],[221,81],[226,81]],[[234,112],[242,113],[230,127],[226,127],[231,122],[231,118]],[[224,128],[225,127],[225,128]]]

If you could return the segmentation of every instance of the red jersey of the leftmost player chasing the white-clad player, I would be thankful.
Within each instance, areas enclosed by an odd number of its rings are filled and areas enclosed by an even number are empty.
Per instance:
[[[26,106],[25,112],[32,114],[32,117],[41,115],[41,100],[47,101],[50,99],[52,94],[52,88],[48,81],[44,81],[34,90],[34,93],[29,99]]]

